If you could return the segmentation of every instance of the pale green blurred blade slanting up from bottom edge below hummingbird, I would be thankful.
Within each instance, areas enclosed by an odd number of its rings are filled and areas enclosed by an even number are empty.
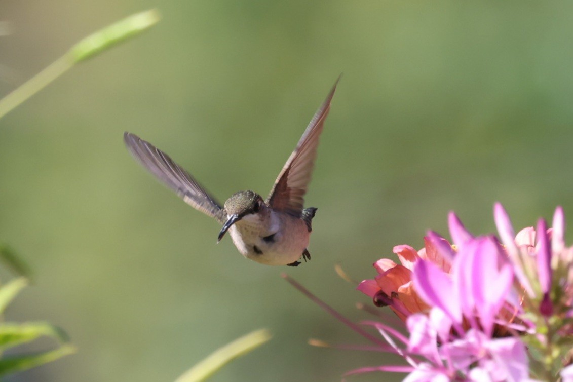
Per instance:
[[[268,330],[259,329],[246,334],[246,336],[237,338],[237,340],[234,340],[233,342],[230,342],[230,344],[227,344],[211,353],[210,356],[189,369],[175,382],[204,381],[230,361],[252,351],[258,346],[261,346],[266,341],[270,340],[270,337]]]

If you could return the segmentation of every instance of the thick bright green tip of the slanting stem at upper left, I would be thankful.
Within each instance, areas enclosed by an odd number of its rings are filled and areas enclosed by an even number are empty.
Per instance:
[[[74,62],[87,60],[102,50],[142,33],[158,21],[159,12],[155,9],[136,13],[85,37],[72,46],[69,54]]]

